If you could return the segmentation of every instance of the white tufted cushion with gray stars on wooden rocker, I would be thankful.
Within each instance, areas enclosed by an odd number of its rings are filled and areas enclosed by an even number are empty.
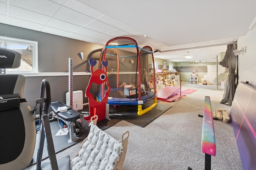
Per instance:
[[[91,125],[87,141],[78,156],[71,160],[72,170],[113,170],[122,152],[122,141],[117,141],[96,125]]]

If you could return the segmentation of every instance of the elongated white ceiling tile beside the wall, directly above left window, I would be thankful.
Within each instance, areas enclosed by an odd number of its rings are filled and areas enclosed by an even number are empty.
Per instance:
[[[17,27],[32,29],[32,30],[36,30],[36,31],[41,31],[42,28],[44,27],[44,25],[41,25],[41,24],[38,24],[38,23],[33,23],[33,22],[30,22],[30,21],[24,21],[24,20],[20,20],[20,19],[17,19],[17,18],[12,18],[12,17],[8,17],[8,23],[7,24],[14,25],[14,26],[17,26]]]

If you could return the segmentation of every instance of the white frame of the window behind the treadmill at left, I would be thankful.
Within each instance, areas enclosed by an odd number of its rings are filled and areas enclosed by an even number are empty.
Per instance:
[[[31,73],[38,73],[38,42],[37,41],[30,41],[25,39],[18,39],[12,37],[3,37],[0,36],[1,41],[5,41],[8,43],[17,43],[22,45],[31,45],[33,46],[33,68],[32,71],[10,71],[6,70],[8,74],[31,74]]]

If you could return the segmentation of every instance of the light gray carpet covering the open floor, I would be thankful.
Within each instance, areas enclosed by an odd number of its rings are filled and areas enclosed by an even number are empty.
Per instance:
[[[198,91],[188,94],[176,102],[160,101],[172,106],[145,127],[128,121],[119,121],[104,131],[116,139],[129,130],[128,150],[122,170],[194,170],[204,169],[204,154],[201,150],[202,117],[204,96],[210,96],[212,111],[224,108],[229,113],[230,105],[220,104],[223,91],[214,90],[216,86],[182,84],[183,89]],[[212,156],[213,170],[242,170],[232,124],[214,120],[216,136],[216,156]],[[79,144],[63,150],[57,158],[78,151]],[[27,168],[35,169],[34,166]]]

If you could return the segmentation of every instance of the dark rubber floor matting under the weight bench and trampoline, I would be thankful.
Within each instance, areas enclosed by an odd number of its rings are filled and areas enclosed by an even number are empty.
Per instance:
[[[152,100],[153,102],[153,100]],[[142,109],[150,106],[152,102],[146,102],[145,104],[142,105]],[[163,104],[158,104],[154,109],[148,111],[148,113],[138,116],[137,111],[138,107],[137,106],[120,106],[119,109],[114,109],[113,106],[110,106],[110,115],[114,113],[122,114],[121,116],[115,115],[115,116],[110,116],[111,121],[108,121],[107,119],[104,119],[102,121],[99,121],[97,123],[98,127],[102,130],[107,129],[108,127],[111,127],[112,125],[118,123],[122,119],[129,121],[130,123],[134,123],[135,125],[138,125],[140,127],[145,127],[148,125],[150,122],[152,122],[154,119],[156,119],[158,116],[160,116],[164,111],[168,110],[171,106],[166,106]],[[88,106],[84,107],[83,110],[79,111],[82,113],[82,111],[88,111]],[[90,127],[87,126],[88,122],[83,119],[81,115],[81,121],[82,121],[82,129],[79,131],[79,133],[76,134],[76,137],[79,137],[77,141],[74,141],[72,143],[68,143],[69,139],[69,134],[68,135],[61,135],[61,136],[55,136],[56,133],[59,131],[60,127],[58,125],[58,121],[51,121],[50,122],[50,127],[52,131],[52,138],[54,142],[54,149],[55,152],[58,153],[72,145],[75,145],[76,143],[79,143],[80,141],[83,141],[89,131]],[[38,131],[37,137],[36,137],[36,147],[33,155],[33,160],[30,163],[30,166],[35,164],[37,161],[37,150],[38,150],[38,144],[39,144],[39,138],[40,138],[40,131]],[[43,149],[43,154],[42,154],[42,160],[45,158],[48,158],[48,150],[47,150],[47,143],[46,140],[44,141],[44,149]]]

